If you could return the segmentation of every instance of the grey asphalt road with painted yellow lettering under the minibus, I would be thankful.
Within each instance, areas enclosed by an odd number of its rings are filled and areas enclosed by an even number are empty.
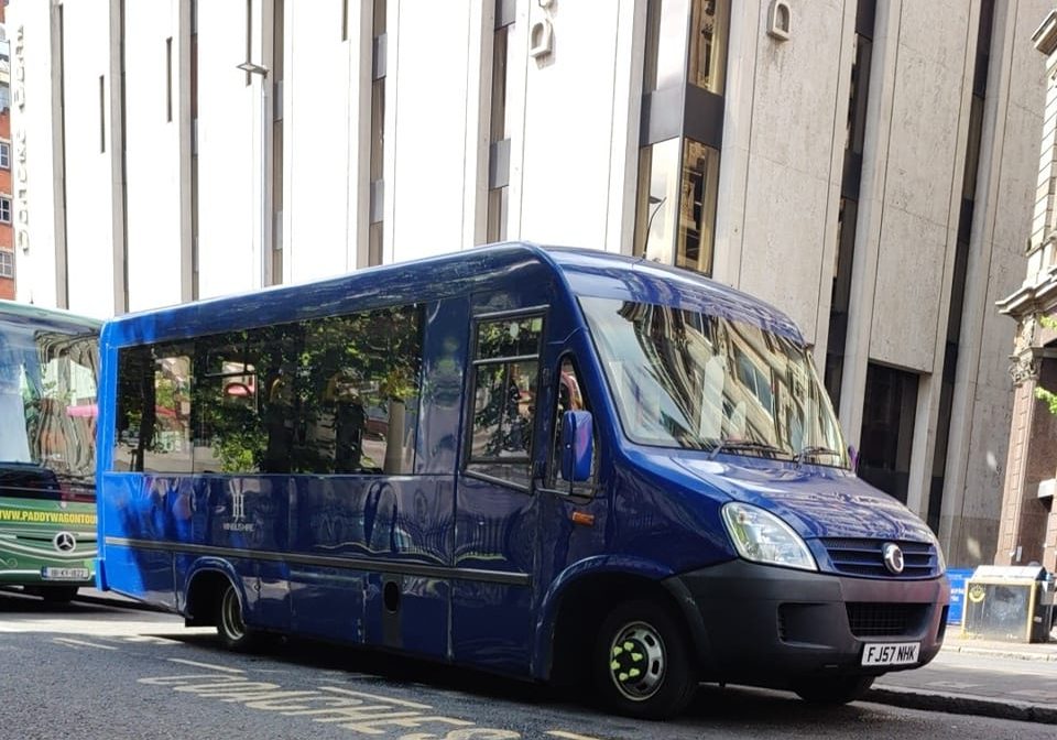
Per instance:
[[[1046,738],[1054,727],[869,703],[704,687],[686,716],[643,722],[579,696],[418,661],[292,642],[222,651],[210,629],[102,603],[0,591],[0,739]]]

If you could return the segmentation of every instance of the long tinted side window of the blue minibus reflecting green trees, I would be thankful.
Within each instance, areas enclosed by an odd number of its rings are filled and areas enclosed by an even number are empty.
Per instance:
[[[410,474],[421,317],[414,304],[123,348],[113,468]]]

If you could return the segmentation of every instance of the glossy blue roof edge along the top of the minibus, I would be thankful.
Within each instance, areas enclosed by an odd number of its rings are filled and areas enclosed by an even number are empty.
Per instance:
[[[540,270],[555,273],[577,295],[662,304],[745,320],[803,344],[799,330],[783,313],[702,275],[610,252],[525,242],[491,244],[312,283],[274,285],[127,314],[107,323],[103,344],[175,339],[361,307],[434,301],[480,290],[482,281],[491,276],[517,281],[520,270],[537,271],[534,282]],[[308,295],[310,300],[306,300]]]

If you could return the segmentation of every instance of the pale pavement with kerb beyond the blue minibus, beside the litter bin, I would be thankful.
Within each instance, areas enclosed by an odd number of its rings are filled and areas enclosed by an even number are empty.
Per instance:
[[[78,599],[157,611],[91,588],[81,589]],[[944,646],[931,663],[881,676],[862,700],[1057,725],[1057,625],[1048,642],[1026,643],[967,635],[960,625],[949,624]]]

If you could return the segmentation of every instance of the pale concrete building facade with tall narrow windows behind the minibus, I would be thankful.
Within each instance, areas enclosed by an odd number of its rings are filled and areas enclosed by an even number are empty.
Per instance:
[[[19,297],[526,239],[778,305],[860,474],[990,562],[1046,0],[13,0]],[[17,235],[17,239],[18,239]]]

